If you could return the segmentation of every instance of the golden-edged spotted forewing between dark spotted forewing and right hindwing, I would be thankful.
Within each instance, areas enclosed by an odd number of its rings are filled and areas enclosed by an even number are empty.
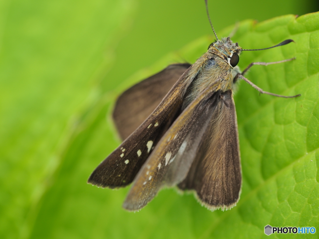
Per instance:
[[[147,159],[139,171],[134,185],[132,186],[123,207],[128,210],[139,210],[147,202],[152,200],[161,186],[172,185],[172,181],[178,181],[177,178],[169,178],[167,173],[170,171],[169,166],[174,162],[175,156],[178,156],[182,147],[187,147],[187,136],[193,127],[198,123],[201,115],[207,108],[213,108],[216,97],[216,86],[212,85],[203,91],[174,121],[173,125],[167,130],[161,138],[158,145],[154,148],[152,154]],[[204,132],[203,132],[204,133]],[[184,143],[184,145],[183,145]],[[191,147],[191,142],[189,142]],[[188,160],[181,168],[184,177],[189,170],[192,159]],[[183,162],[184,163],[184,162]],[[188,164],[188,165],[186,165]],[[167,177],[166,177],[167,176]],[[180,178],[181,181],[183,178]],[[167,182],[165,181],[167,180]],[[176,185],[176,182],[175,182]]]

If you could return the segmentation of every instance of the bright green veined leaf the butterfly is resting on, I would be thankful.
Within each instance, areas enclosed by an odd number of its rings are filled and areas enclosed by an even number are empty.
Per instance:
[[[286,46],[245,52],[239,65],[244,69],[250,62],[296,57],[282,64],[254,66],[247,77],[265,91],[301,94],[292,99],[259,95],[240,82],[235,105],[243,186],[237,206],[225,212],[211,212],[192,195],[181,196],[174,189],[166,189],[140,212],[129,213],[121,208],[128,188],[113,191],[85,185],[95,166],[119,144],[112,136],[114,129],[109,116],[116,95],[179,57],[194,62],[213,40],[203,37],[167,55],[152,68],[138,72],[89,108],[64,151],[54,185],[41,201],[31,237],[259,238],[266,236],[263,230],[268,224],[318,228],[319,68],[314,67],[319,63],[315,57],[318,19],[319,13],[312,13],[298,18],[287,15],[258,24],[243,21],[233,37],[246,49],[293,39],[295,43]],[[233,28],[218,34],[227,36]]]

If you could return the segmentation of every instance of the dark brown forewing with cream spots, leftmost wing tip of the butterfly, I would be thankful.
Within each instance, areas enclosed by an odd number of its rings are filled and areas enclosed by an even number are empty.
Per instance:
[[[179,69],[179,73],[181,70]],[[93,171],[88,183],[117,188],[130,184],[152,148],[177,118],[182,107],[181,88],[186,72],[152,114]],[[124,112],[125,113],[125,112]]]

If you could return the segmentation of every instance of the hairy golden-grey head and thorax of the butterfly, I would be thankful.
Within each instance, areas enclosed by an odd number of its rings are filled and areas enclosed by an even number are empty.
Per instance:
[[[212,43],[191,67],[185,83],[185,101],[183,109],[189,105],[207,87],[215,85],[216,91],[228,91],[233,88],[233,78],[239,72],[237,66],[230,63],[233,54],[240,54],[241,47],[229,37]]]

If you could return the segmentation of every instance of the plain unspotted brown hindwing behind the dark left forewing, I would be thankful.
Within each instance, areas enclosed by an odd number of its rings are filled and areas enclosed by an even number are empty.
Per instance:
[[[190,66],[188,63],[169,65],[122,93],[113,112],[113,119],[122,140],[147,119]]]

